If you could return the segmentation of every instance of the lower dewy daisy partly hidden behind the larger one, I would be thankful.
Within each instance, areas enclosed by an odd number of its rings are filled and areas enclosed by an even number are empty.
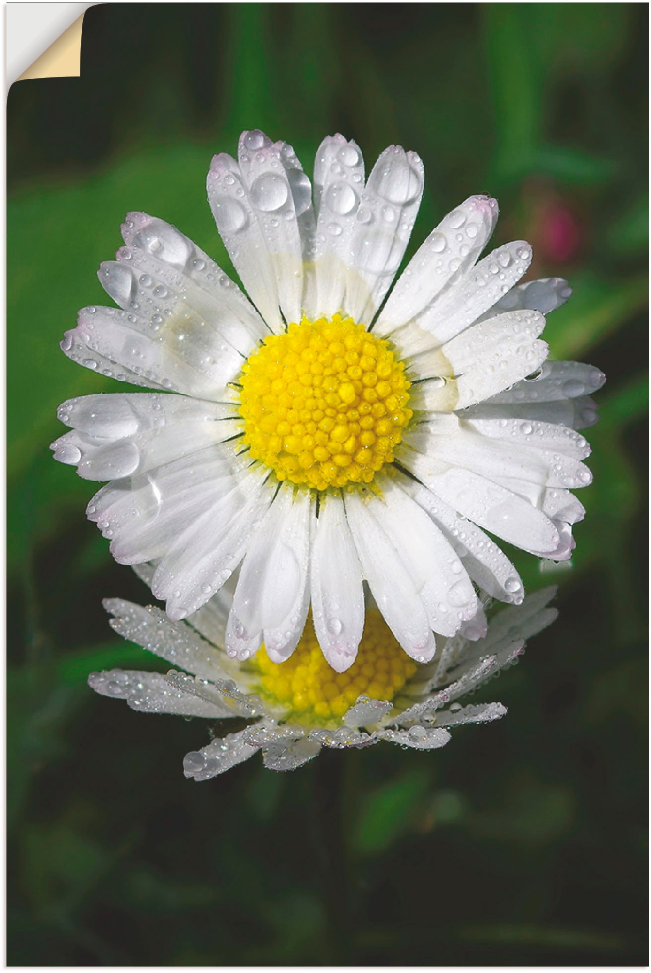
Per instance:
[[[145,566],[139,573],[151,580],[153,571]],[[185,775],[196,780],[222,774],[256,750],[271,770],[290,771],[322,746],[364,747],[382,739],[418,750],[444,746],[450,727],[488,723],[506,713],[501,703],[457,701],[517,662],[524,639],[558,614],[548,607],[556,589],[527,595],[492,618],[484,637],[470,641],[459,632],[442,639],[436,659],[417,666],[377,608],[369,607],[358,658],[338,673],[321,654],[309,623],[287,662],[272,663],[263,646],[246,663],[235,663],[222,648],[232,588],[226,585],[187,622],[172,622],[159,608],[105,601],[115,631],[185,671],[113,669],[89,676],[97,693],[126,700],[141,712],[243,718],[243,728],[187,754]]]

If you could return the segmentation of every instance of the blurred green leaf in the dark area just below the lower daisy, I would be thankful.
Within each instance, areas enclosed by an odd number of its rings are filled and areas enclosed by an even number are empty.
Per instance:
[[[427,789],[425,770],[405,771],[370,794],[353,831],[352,844],[361,854],[380,854],[411,824]]]

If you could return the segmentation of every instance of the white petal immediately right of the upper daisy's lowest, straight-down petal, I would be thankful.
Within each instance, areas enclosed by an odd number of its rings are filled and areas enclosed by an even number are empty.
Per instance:
[[[381,510],[374,515],[378,501],[349,493],[344,503],[364,576],[386,624],[408,655],[426,662],[436,652],[436,641],[416,585],[380,526]]]

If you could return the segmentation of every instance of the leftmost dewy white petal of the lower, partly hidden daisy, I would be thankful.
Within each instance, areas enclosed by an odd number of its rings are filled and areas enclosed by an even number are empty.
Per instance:
[[[178,716],[204,716],[217,719],[223,709],[214,703],[199,700],[170,686],[161,672],[91,672],[90,689],[100,696],[126,700],[131,709],[141,713],[174,713]]]

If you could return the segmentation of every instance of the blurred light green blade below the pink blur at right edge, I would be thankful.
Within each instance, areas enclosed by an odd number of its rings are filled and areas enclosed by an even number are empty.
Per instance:
[[[570,283],[572,297],[549,315],[543,336],[552,357],[560,360],[589,360],[591,348],[623,328],[648,301],[646,274],[616,281],[584,270]]]

